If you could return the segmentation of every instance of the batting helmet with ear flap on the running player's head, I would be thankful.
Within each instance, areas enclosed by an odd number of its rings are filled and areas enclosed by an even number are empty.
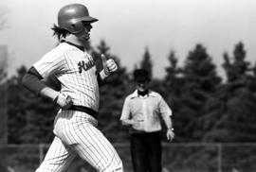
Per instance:
[[[82,22],[97,22],[98,19],[89,15],[88,9],[82,4],[69,4],[59,10],[58,25],[76,34],[82,31]]]

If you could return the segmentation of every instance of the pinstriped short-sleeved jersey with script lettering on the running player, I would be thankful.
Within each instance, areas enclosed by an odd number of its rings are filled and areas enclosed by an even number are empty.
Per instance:
[[[98,112],[99,85],[93,58],[80,48],[60,43],[33,67],[42,75],[55,75],[62,84],[61,92],[71,96],[74,105]]]

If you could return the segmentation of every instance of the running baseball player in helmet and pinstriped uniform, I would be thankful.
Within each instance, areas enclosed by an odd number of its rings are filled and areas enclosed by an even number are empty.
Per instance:
[[[82,4],[64,6],[58,13],[58,26],[53,26],[60,43],[35,62],[23,78],[23,85],[36,95],[46,96],[60,106],[54,121],[55,138],[43,163],[36,172],[64,171],[76,155],[100,172],[122,172],[122,162],[115,148],[97,129],[99,84],[115,72],[114,60],[105,60],[97,73],[95,61],[85,51],[92,23]],[[61,84],[58,92],[47,86],[48,77]]]

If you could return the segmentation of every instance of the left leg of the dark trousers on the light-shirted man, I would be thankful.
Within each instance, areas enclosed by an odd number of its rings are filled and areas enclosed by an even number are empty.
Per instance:
[[[134,172],[147,172],[148,156],[144,134],[134,133],[131,135],[131,156]]]

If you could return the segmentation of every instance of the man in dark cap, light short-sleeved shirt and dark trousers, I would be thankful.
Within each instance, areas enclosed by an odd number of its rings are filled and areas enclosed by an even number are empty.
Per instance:
[[[144,69],[134,72],[136,90],[128,95],[122,107],[120,121],[129,127],[134,172],[161,172],[160,117],[169,141],[174,139],[172,110],[163,97],[149,89],[150,76]]]

